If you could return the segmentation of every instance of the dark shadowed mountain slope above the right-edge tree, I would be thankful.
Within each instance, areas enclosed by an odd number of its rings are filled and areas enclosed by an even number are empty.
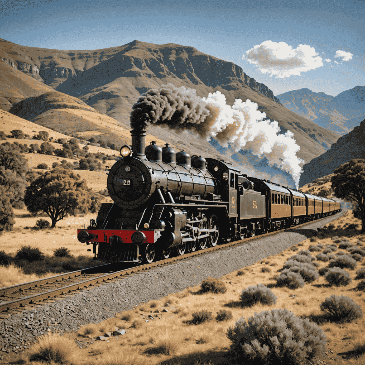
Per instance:
[[[342,136],[324,154],[303,166],[299,186],[302,187],[324,175],[333,173],[340,165],[353,158],[365,158],[365,119],[360,126]]]

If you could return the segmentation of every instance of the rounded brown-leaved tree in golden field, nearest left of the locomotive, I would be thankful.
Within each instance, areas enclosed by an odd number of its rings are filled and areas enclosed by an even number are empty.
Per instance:
[[[26,188],[24,203],[31,213],[45,212],[51,218],[53,228],[68,214],[75,216],[78,212],[87,212],[91,197],[80,175],[57,167]]]

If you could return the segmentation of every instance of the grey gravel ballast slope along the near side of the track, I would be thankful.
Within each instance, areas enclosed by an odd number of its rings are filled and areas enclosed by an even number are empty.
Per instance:
[[[322,227],[339,216],[313,222],[305,228],[262,237],[245,245],[207,253],[170,265],[136,272],[91,290],[82,290],[73,296],[45,304],[32,310],[0,320],[0,357],[10,351],[27,349],[39,335],[51,331],[73,331],[88,323],[98,323],[114,316],[116,312],[130,310],[133,306],[157,300],[170,293],[198,285],[208,277],[220,277],[254,264],[269,255],[304,241],[317,234]]]

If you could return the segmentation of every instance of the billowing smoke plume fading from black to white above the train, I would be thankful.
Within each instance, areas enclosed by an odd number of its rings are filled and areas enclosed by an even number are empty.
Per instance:
[[[289,172],[298,188],[304,161],[296,156],[300,146],[293,133],[278,134],[278,122],[263,120],[265,113],[250,100],[236,99],[233,106],[216,91],[207,97],[196,95],[195,89],[162,85],[142,94],[131,112],[131,126],[143,129],[150,124],[166,125],[174,130],[188,129],[220,145],[230,144],[236,152],[250,149],[258,157],[264,155],[270,164]]]

